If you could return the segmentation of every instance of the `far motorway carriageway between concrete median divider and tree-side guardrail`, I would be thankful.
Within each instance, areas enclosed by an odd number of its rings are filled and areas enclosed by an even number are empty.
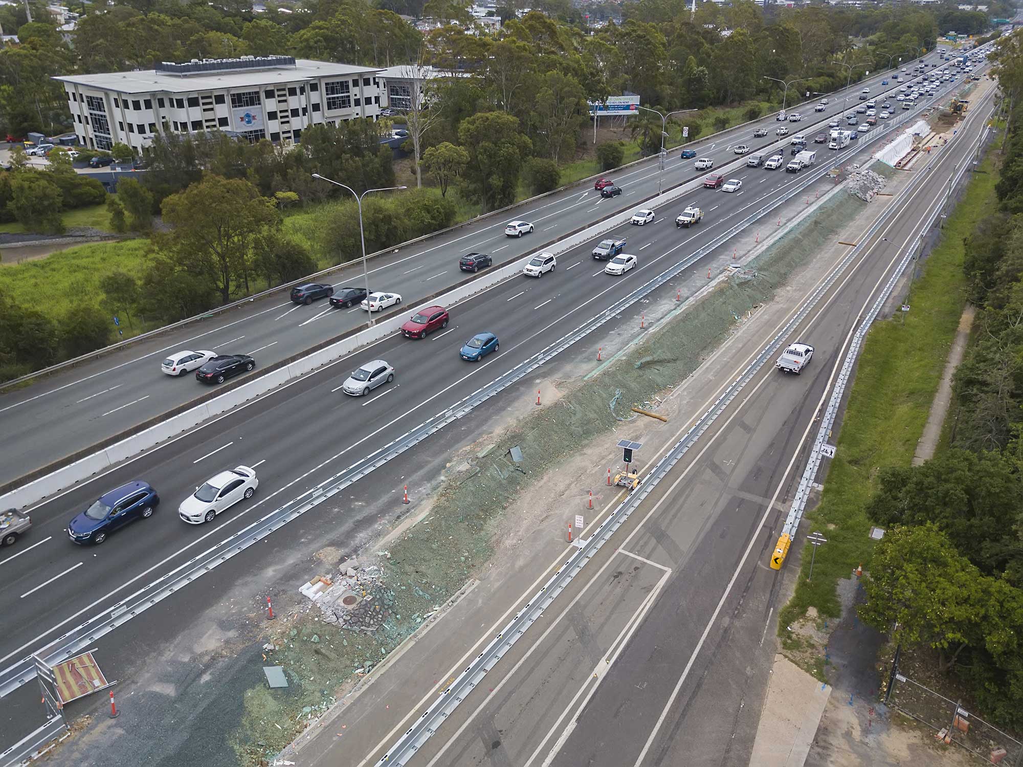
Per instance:
[[[926,59],[932,63],[937,56],[931,53]],[[801,111],[804,120],[787,123],[787,127],[793,135],[806,133],[812,140],[816,133],[826,129],[830,120],[861,103],[856,98],[861,88],[870,88],[872,97],[893,94],[899,84],[892,82],[889,86],[881,86],[882,80],[890,74],[872,77],[847,91],[833,94],[822,112],[814,112],[812,103],[790,107],[790,111]],[[906,82],[919,80],[903,80],[902,84]],[[946,87],[941,88],[939,97],[946,91]],[[900,114],[898,109],[895,116]],[[749,144],[756,151],[774,142],[777,125],[774,116],[769,115],[756,124],[715,134],[691,146],[698,151],[698,156],[711,157],[716,166],[722,166],[737,159],[732,148],[736,144]],[[754,138],[756,127],[766,127],[767,137]],[[811,144],[810,148],[821,153],[829,151],[821,144]],[[729,172],[729,178],[747,177],[743,193],[730,201],[727,195],[717,195],[712,197],[713,202],[703,202],[707,215],[701,226],[705,230],[712,229],[751,198],[762,196],[786,182],[781,172],[774,174],[779,178],[770,180],[765,173],[770,174],[762,169]],[[670,188],[702,175],[694,169],[693,160],[682,161],[675,151],[664,170],[664,185]],[[622,186],[624,193],[621,196],[603,199],[591,185],[572,187],[517,208],[507,216],[485,218],[379,257],[371,262],[370,288],[397,291],[403,296],[404,305],[413,306],[422,298],[465,278],[457,265],[458,258],[465,253],[489,253],[495,263],[509,261],[616,212],[640,207],[641,200],[657,193],[656,160],[607,176]],[[665,218],[664,214],[661,216]],[[533,223],[535,232],[521,239],[505,237],[503,227],[511,219]],[[657,226],[663,227],[665,223],[662,221]],[[646,244],[633,237],[630,246],[633,241]],[[361,265],[346,267],[331,274],[329,279],[336,285],[361,284]],[[511,307],[507,309],[510,311]],[[8,438],[0,447],[0,483],[9,483],[40,467],[60,462],[78,451],[124,434],[206,394],[207,390],[193,376],[177,379],[160,371],[160,363],[169,352],[211,349],[219,353],[246,353],[256,357],[259,365],[266,366],[336,337],[364,321],[365,314],[359,309],[331,309],[325,302],[296,306],[287,303],[283,294],[276,294],[39,379],[27,389],[0,395],[0,422]],[[502,346],[502,351],[504,349],[506,346]],[[259,374],[259,368],[253,374]]]

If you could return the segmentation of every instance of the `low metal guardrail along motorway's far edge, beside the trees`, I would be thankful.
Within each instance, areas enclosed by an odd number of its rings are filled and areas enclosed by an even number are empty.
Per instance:
[[[942,70],[945,66],[947,66],[947,64],[942,64],[940,67],[937,67],[935,70],[935,72],[937,72],[938,70]],[[879,76],[879,77],[884,77],[884,76]],[[914,78],[914,79],[917,79],[917,78]],[[907,82],[911,82],[911,81],[907,81]],[[855,84],[855,85],[858,85],[858,83]],[[831,97],[833,97],[833,98],[839,98],[840,96],[838,94],[842,93],[842,91],[845,91],[845,90],[850,90],[851,91],[855,87],[855,85],[850,85],[849,88],[847,88],[847,89],[846,88],[840,88],[839,90],[833,91],[832,93],[830,93],[828,95],[831,96]],[[799,104],[796,104],[794,106],[790,106],[789,110],[792,110],[794,108],[797,108],[799,106],[802,106],[802,105],[808,104],[808,103],[810,103],[810,101],[800,102]],[[844,107],[843,107],[843,110],[844,110]],[[696,141],[694,141],[692,143],[697,143],[697,142],[700,142],[700,141],[706,142],[706,141],[708,141],[710,139],[713,139],[715,137],[723,137],[725,134],[728,134],[728,133],[731,133],[731,132],[738,132],[738,131],[740,131],[740,130],[742,130],[742,129],[744,129],[744,128],[752,125],[753,123],[759,122],[764,117],[766,117],[766,116],[761,116],[761,117],[757,118],[756,120],[750,120],[750,121],[747,121],[745,123],[740,123],[738,125],[733,125],[730,128],[725,128],[723,131],[719,131],[717,133],[708,134],[704,138],[697,139]],[[824,122],[825,122],[825,120],[820,120],[820,121],[818,121],[816,123],[812,123],[812,124],[806,126],[805,128],[803,128],[802,130],[806,130],[806,131],[814,130],[816,127],[818,127]],[[675,149],[677,149],[677,148],[679,148],[680,146],[683,146],[683,145],[684,144],[678,144],[678,145],[676,145],[674,147],[665,147],[665,151],[666,152],[674,151]],[[425,241],[427,241],[429,239],[432,239],[434,237],[439,237],[439,236],[442,236],[442,235],[447,234],[449,232],[453,232],[453,231],[456,231],[458,229],[461,229],[461,228],[463,228],[465,226],[469,226],[471,224],[478,223],[478,222],[480,222],[480,221],[482,221],[484,219],[492,218],[492,217],[495,217],[495,216],[498,216],[498,215],[502,215],[504,213],[507,213],[508,211],[513,211],[513,210],[516,210],[518,208],[522,208],[523,206],[528,206],[531,202],[535,202],[538,199],[542,199],[542,198],[550,196],[552,194],[558,194],[559,192],[567,191],[569,189],[572,189],[573,187],[580,186],[582,184],[588,184],[593,179],[599,178],[601,176],[616,174],[616,173],[624,171],[624,170],[626,170],[628,168],[632,168],[633,166],[638,166],[638,165],[640,165],[642,163],[651,163],[653,165],[655,162],[660,162],[660,159],[657,157],[657,155],[651,155],[651,156],[647,156],[647,157],[640,157],[638,160],[632,161],[631,163],[626,163],[625,165],[620,166],[618,168],[615,168],[615,169],[613,169],[611,171],[603,171],[603,172],[601,172],[601,173],[598,173],[598,174],[596,174],[594,176],[587,176],[586,178],[580,179],[580,180],[575,181],[575,182],[573,182],[571,184],[566,184],[565,186],[560,186],[557,189],[551,189],[550,191],[543,192],[542,194],[536,194],[536,195],[534,195],[532,197],[529,197],[527,199],[521,200],[519,202],[514,202],[514,204],[511,204],[509,206],[505,206],[504,208],[499,208],[496,211],[490,211],[489,213],[481,214],[480,216],[476,216],[476,217],[474,217],[472,219],[469,219],[468,221],[462,221],[461,223],[455,224],[453,226],[445,227],[444,229],[438,229],[435,232],[430,232],[429,234],[424,234],[420,237],[415,237],[413,239],[409,239],[409,240],[406,240],[404,242],[399,242],[397,244],[390,245],[390,246],[385,247],[385,249],[383,249],[381,251],[376,251],[375,253],[368,254],[366,256],[366,258],[367,259],[372,259],[372,258],[379,258],[381,256],[386,256],[387,254],[393,253],[393,252],[395,252],[397,250],[400,250],[402,247],[408,247],[409,245],[413,245],[413,244],[415,244],[417,242],[425,242]],[[681,183],[685,183],[686,181],[693,181],[693,180],[699,178],[700,175],[701,174],[697,174],[696,176],[693,176],[692,178],[683,179]],[[678,185],[679,184],[675,184],[674,186],[678,186]],[[674,186],[669,187],[669,189],[670,188],[674,188]],[[543,246],[544,245],[540,245],[540,247],[543,247]],[[244,299],[238,299],[237,301],[233,301],[230,304],[225,304],[225,305],[220,306],[220,307],[215,307],[215,308],[210,309],[210,310],[208,310],[206,312],[203,312],[202,314],[197,314],[197,315],[194,315],[192,317],[186,317],[183,320],[179,320],[177,322],[173,322],[173,323],[171,323],[169,325],[164,325],[163,327],[158,327],[154,330],[149,330],[147,332],[140,333],[139,335],[132,336],[131,339],[125,339],[124,341],[118,342],[117,344],[112,344],[109,346],[103,347],[102,349],[97,349],[97,350],[95,350],[93,352],[89,352],[88,354],[80,355],[78,357],[75,357],[74,359],[64,360],[63,362],[58,362],[57,364],[50,365],[49,367],[45,367],[42,370],[36,370],[34,372],[31,372],[31,373],[26,373],[25,375],[21,375],[21,376],[19,376],[17,378],[12,378],[11,380],[0,381],[0,392],[4,391],[5,389],[8,389],[10,387],[17,386],[19,384],[24,384],[24,382],[29,381],[29,380],[33,380],[34,378],[38,378],[38,377],[41,377],[41,376],[44,376],[44,375],[52,375],[55,372],[59,372],[60,370],[63,370],[63,369],[69,368],[69,367],[75,367],[76,365],[79,365],[79,364],[81,364],[83,362],[88,362],[89,360],[99,359],[100,357],[102,357],[102,356],[104,356],[106,354],[109,354],[112,352],[116,352],[116,351],[118,351],[120,349],[127,348],[128,346],[130,346],[132,344],[136,344],[139,341],[145,341],[145,340],[148,340],[148,339],[157,337],[158,335],[166,333],[166,332],[168,332],[170,330],[175,330],[175,329],[177,329],[179,327],[184,327],[185,325],[189,325],[189,324],[192,324],[192,323],[195,323],[195,322],[199,322],[199,321],[205,320],[205,319],[210,319],[212,317],[219,316],[219,315],[224,314],[224,313],[226,313],[228,311],[231,311],[231,310],[234,310],[234,309],[238,309],[238,308],[244,306],[246,304],[253,303],[257,299],[264,299],[264,298],[267,298],[269,296],[282,292],[284,290],[290,290],[295,285],[300,285],[300,284],[303,284],[304,282],[309,282],[311,280],[314,281],[314,280],[316,280],[319,277],[325,276],[325,275],[330,274],[332,272],[336,272],[338,270],[342,270],[346,266],[350,266],[353,263],[356,263],[356,261],[346,262],[346,264],[338,264],[336,266],[327,267],[326,269],[321,269],[320,271],[313,272],[312,274],[308,274],[308,275],[302,277],[301,279],[294,280],[292,282],[286,282],[286,283],[284,283],[282,285],[277,285],[275,287],[270,287],[270,288],[268,288],[266,290],[262,290],[262,291],[260,291],[258,294],[254,294],[254,295],[249,296],[249,297],[247,297]]]

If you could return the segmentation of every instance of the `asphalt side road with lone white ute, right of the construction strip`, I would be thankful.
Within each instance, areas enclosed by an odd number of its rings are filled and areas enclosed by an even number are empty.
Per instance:
[[[900,213],[788,337],[814,346],[806,371],[761,368],[412,764],[749,762],[783,578],[767,559],[817,414],[852,330],[969,162],[987,114],[968,117]],[[739,376],[745,354],[732,353],[737,367],[723,381]],[[360,756],[372,764],[381,754]]]

